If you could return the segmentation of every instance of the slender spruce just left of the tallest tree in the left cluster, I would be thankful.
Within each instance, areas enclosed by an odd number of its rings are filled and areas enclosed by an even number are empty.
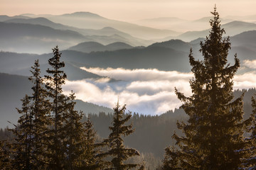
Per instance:
[[[33,67],[31,67],[32,76],[28,79],[33,82],[32,90],[33,94],[31,97],[31,112],[33,113],[33,158],[35,159],[34,164],[37,169],[43,169],[45,164],[48,162],[47,153],[47,135],[48,128],[50,126],[50,106],[49,101],[46,99],[46,89],[43,89],[43,79],[39,69],[40,64],[38,60],[35,61]]]

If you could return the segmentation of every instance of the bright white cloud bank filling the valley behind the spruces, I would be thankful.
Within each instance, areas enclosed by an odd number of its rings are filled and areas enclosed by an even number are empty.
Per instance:
[[[110,108],[119,99],[121,104],[127,104],[129,111],[158,115],[181,106],[174,87],[186,96],[191,95],[189,80],[193,77],[192,73],[164,72],[158,69],[81,69],[109,78],[66,81],[64,93],[69,94],[73,90],[75,96],[82,101]],[[252,77],[256,77],[256,72],[235,75],[234,89],[255,87],[256,79]],[[119,81],[110,81],[110,78]]]

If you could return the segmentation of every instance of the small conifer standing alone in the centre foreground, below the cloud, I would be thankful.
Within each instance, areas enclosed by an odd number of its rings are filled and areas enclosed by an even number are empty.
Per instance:
[[[110,135],[105,140],[110,149],[103,155],[112,157],[112,166],[109,169],[124,170],[139,166],[139,164],[124,164],[124,161],[129,157],[139,155],[139,152],[136,149],[124,147],[122,135],[127,136],[134,132],[132,124],[124,125],[124,123],[127,123],[127,121],[132,117],[129,113],[126,115],[126,118],[123,118],[125,109],[125,105],[120,108],[119,102],[117,102],[117,106],[114,108],[113,126],[110,126]]]

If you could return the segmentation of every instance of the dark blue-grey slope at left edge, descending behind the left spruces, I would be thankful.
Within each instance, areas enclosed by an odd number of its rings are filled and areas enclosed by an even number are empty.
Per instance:
[[[0,73],[0,128],[6,128],[7,125],[11,127],[11,123],[16,124],[20,115],[18,115],[16,108],[21,108],[21,99],[28,94],[31,95],[31,82],[28,77],[4,74]],[[75,109],[83,111],[84,113],[95,113],[100,112],[112,113],[112,109],[103,106],[97,106],[93,103],[87,103],[83,101],[76,101],[77,104]]]

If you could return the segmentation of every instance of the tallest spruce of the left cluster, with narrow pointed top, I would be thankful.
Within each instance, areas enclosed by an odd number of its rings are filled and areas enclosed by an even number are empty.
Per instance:
[[[46,72],[46,89],[48,89],[48,97],[52,98],[50,111],[52,112],[53,128],[50,130],[48,150],[50,154],[50,169],[63,169],[65,164],[64,144],[65,134],[63,134],[63,113],[66,111],[67,98],[61,94],[63,92],[62,85],[65,84],[67,78],[65,72],[61,70],[65,67],[64,62],[60,61],[61,53],[58,46],[53,48],[53,57],[48,60],[48,64],[53,69],[47,69]],[[50,76],[51,75],[51,76]]]

